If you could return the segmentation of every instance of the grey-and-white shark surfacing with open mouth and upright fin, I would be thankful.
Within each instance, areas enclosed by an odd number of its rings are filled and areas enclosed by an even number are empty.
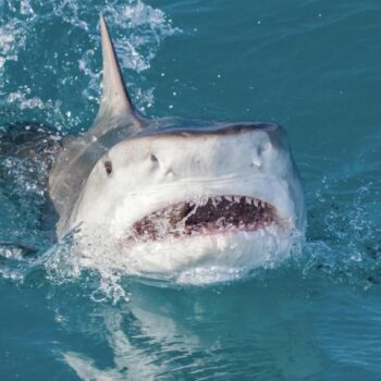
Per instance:
[[[50,175],[62,237],[131,256],[139,272],[260,266],[306,226],[285,131],[269,123],[147,120],[131,102],[101,17],[103,97]],[[84,238],[85,237],[85,238]],[[132,265],[133,263],[133,265]]]

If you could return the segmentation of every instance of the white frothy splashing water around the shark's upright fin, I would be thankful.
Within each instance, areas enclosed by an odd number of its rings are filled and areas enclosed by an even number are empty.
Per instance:
[[[87,128],[98,107],[100,41],[98,22],[94,20],[99,13],[111,21],[122,69],[138,73],[150,67],[164,38],[181,33],[172,27],[172,22],[161,10],[139,0],[124,4],[108,1],[95,7],[76,1],[56,4],[29,0],[19,5],[2,2],[0,10],[3,14],[0,94],[8,95],[1,101],[0,110],[4,109],[4,114],[15,113],[19,120],[44,120],[65,133],[75,132],[78,126]],[[54,30],[58,26],[69,32],[61,38],[60,49],[54,41],[54,37],[59,38]],[[72,41],[72,34],[81,35],[81,42]],[[137,106],[143,110],[151,107],[153,88],[144,84],[135,86],[133,77],[128,83],[131,88],[138,88],[136,94],[133,93]],[[19,84],[17,88],[14,88],[15,84]],[[63,105],[66,91],[77,94],[77,101]]]

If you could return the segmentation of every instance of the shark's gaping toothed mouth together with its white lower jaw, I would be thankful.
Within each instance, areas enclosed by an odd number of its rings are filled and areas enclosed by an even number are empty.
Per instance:
[[[158,197],[148,207],[149,196],[140,196],[119,208],[112,222],[81,225],[76,243],[86,266],[176,283],[214,283],[278,266],[303,241],[284,209],[258,197],[179,197],[167,206]],[[147,209],[121,223],[134,204]]]

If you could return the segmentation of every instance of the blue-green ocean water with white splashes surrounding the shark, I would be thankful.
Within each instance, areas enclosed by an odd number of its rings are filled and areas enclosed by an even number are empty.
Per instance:
[[[146,115],[287,130],[306,244],[218,283],[91,271],[0,152],[0,380],[380,380],[380,1],[0,0],[0,132],[90,125],[100,12]]]

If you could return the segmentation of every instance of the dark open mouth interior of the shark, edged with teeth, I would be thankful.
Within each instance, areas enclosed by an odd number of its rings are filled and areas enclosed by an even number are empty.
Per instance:
[[[278,221],[275,208],[244,196],[210,197],[204,202],[179,202],[135,222],[131,238],[160,239],[229,231],[255,231]]]

